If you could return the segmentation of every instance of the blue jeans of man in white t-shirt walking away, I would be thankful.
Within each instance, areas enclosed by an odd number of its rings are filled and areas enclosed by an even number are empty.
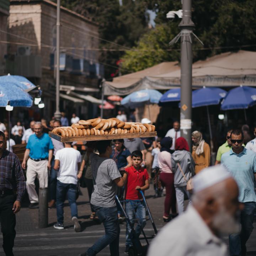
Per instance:
[[[56,209],[57,209],[57,220],[58,223],[63,224],[63,206],[68,193],[68,201],[71,209],[71,217],[78,217],[78,210],[76,206],[76,191],[77,185],[62,183],[57,181],[57,194],[56,194]]]

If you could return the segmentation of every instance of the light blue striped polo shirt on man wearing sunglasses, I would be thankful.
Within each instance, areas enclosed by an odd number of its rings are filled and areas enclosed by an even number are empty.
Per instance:
[[[238,201],[242,203],[256,202],[254,188],[256,154],[246,148],[240,154],[236,154],[231,148],[228,152],[222,154],[220,162],[228,169],[238,184]]]

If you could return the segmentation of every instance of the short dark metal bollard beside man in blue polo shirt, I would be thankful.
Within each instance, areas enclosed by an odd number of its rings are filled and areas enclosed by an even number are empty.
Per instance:
[[[48,188],[39,188],[39,228],[47,228],[48,226]]]

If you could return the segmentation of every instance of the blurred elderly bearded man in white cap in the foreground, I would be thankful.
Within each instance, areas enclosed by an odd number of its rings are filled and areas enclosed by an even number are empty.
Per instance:
[[[224,166],[193,178],[192,205],[154,238],[148,256],[226,256],[223,235],[240,229],[238,186]]]

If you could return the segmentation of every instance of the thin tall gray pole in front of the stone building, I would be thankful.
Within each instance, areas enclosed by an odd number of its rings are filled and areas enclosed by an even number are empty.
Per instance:
[[[56,111],[54,117],[60,119],[61,114],[59,111],[59,58],[60,58],[60,0],[57,0],[57,22],[56,22]]]

